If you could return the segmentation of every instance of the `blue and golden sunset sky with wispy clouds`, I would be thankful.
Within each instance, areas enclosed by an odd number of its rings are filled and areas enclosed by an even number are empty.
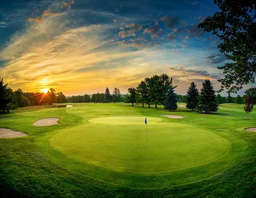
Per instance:
[[[179,94],[206,78],[218,90],[217,67],[228,60],[218,38],[197,28],[216,11],[213,0],[2,0],[0,76],[13,90],[66,96],[125,94],[162,73]]]

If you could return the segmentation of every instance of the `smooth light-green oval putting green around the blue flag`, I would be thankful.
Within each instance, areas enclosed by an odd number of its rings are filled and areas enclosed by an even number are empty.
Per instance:
[[[134,173],[159,173],[207,164],[228,153],[230,142],[209,130],[164,118],[103,117],[54,134],[62,154],[87,164]]]

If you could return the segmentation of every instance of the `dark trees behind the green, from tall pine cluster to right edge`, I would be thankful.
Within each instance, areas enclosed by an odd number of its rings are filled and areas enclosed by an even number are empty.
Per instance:
[[[216,112],[218,110],[218,105],[222,103],[237,103],[242,104],[246,102],[247,98],[254,96],[256,99],[256,88],[250,88],[246,90],[245,95],[241,97],[240,95],[236,97],[230,96],[222,97],[220,94],[216,96],[216,91],[214,90],[210,80],[206,79],[202,82],[202,88],[199,92],[196,84],[192,82],[188,88],[187,94],[182,96],[180,94],[175,94],[175,88],[173,86],[172,78],[167,74],[162,74],[160,76],[154,75],[150,78],[145,78],[138,84],[136,88],[128,88],[128,93],[125,96],[125,102],[140,103],[142,107],[147,104],[150,108],[151,104],[164,105],[166,110],[176,110],[177,102],[186,102],[186,108],[191,110],[197,110],[197,112]]]

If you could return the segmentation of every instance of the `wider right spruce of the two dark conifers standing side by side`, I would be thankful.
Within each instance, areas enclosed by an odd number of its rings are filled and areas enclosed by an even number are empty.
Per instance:
[[[218,110],[218,104],[216,102],[216,95],[212,83],[206,79],[202,82],[202,89],[198,97],[197,111],[202,112],[216,112]]]

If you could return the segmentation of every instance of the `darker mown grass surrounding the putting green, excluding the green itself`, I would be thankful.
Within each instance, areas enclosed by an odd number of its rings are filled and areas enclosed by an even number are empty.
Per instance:
[[[141,185],[152,178],[133,178],[133,187],[102,182],[86,176],[86,170],[79,172],[72,170],[70,159],[54,150],[48,142],[50,136],[57,130],[80,126],[88,123],[90,118],[99,118],[112,115],[124,116],[158,116],[169,114],[162,108],[131,107],[129,104],[77,104],[74,108],[52,108],[31,112],[0,115],[0,127],[12,128],[30,134],[27,137],[16,139],[0,139],[0,192],[4,197],[254,197],[256,194],[256,134],[246,132],[244,128],[256,126],[256,114],[250,114],[246,119],[242,105],[221,105],[218,113],[198,114],[178,108],[176,115],[185,116],[186,119],[167,120],[170,123],[193,124],[208,128],[222,134],[232,134],[238,141],[230,140],[235,146],[234,153],[242,150],[242,158],[234,158],[233,166],[224,168],[220,174],[208,179],[192,182],[188,180],[185,185],[172,184],[175,176],[161,176],[161,182],[169,182],[171,187],[159,189],[136,188],[136,182]],[[84,106],[83,106],[84,105]],[[76,112],[74,114],[74,112]],[[61,117],[62,124],[57,126],[34,127],[34,120],[57,116]],[[246,142],[245,144],[240,140]],[[232,155],[233,156],[233,155]],[[231,159],[232,161],[232,159]],[[64,164],[61,166],[60,164]],[[214,167],[230,164],[230,160],[212,164]],[[66,167],[65,167],[66,166]],[[81,165],[82,166],[82,165]],[[87,170],[92,172],[93,168]],[[189,170],[189,169],[188,169]],[[208,170],[208,169],[207,169]],[[100,177],[115,176],[116,172],[95,170]],[[203,173],[204,170],[191,170],[177,176],[192,176]],[[93,175],[94,178],[95,175]],[[118,176],[118,175],[116,175]],[[119,175],[120,176],[120,175]],[[117,180],[120,178],[116,178]],[[122,178],[121,178],[122,179]],[[125,182],[125,181],[123,181]],[[131,181],[130,181],[131,182]],[[184,181],[183,181],[184,183]]]

